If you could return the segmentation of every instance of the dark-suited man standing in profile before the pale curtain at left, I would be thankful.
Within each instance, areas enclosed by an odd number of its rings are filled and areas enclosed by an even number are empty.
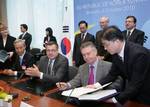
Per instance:
[[[28,26],[26,24],[21,24],[20,25],[20,29],[21,29],[21,32],[23,34],[21,34],[19,36],[19,39],[23,39],[25,40],[25,44],[26,44],[26,51],[30,51],[30,44],[32,42],[32,35],[30,33],[27,32],[28,30]]]

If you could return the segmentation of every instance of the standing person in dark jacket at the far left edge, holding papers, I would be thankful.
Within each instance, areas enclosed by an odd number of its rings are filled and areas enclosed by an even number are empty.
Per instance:
[[[5,63],[0,62],[0,69],[8,69],[12,66],[12,56],[14,54],[15,48],[13,42],[16,38],[12,37],[8,33],[8,28],[4,25],[0,28],[0,50],[5,50],[9,54],[9,58]]]

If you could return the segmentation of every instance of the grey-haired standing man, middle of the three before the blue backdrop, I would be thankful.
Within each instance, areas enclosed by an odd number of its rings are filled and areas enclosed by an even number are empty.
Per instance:
[[[103,30],[109,26],[109,18],[102,16],[99,21],[101,30],[96,32],[96,47],[98,50],[98,56],[100,59],[111,61],[111,55],[104,49],[104,46],[101,42],[101,37],[103,35]]]

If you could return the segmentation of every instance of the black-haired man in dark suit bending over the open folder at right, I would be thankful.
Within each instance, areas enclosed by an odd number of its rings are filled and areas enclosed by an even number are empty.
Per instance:
[[[102,43],[113,55],[113,65],[106,78],[99,83],[103,85],[113,81],[118,75],[126,81],[124,91],[112,101],[124,104],[131,100],[150,105],[149,50],[135,43],[125,42],[122,32],[115,26],[110,26],[104,31]]]

